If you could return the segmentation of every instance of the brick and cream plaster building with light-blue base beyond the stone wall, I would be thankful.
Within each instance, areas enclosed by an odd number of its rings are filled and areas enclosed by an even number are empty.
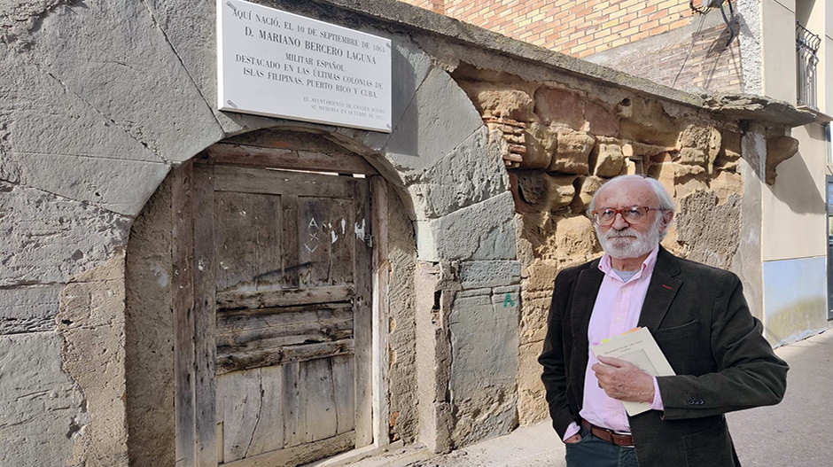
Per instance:
[[[722,10],[683,0],[413,3],[676,89],[759,95],[814,112],[816,121],[790,134],[798,157],[756,194],[760,258],[750,261],[761,272],[747,292],[775,346],[830,326],[833,2],[735,0]]]

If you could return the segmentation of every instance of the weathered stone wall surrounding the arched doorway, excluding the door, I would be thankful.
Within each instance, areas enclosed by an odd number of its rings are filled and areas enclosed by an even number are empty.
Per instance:
[[[393,0],[264,3],[392,40],[393,133],[216,111],[211,2],[0,4],[0,464],[142,464],[153,440],[170,460],[163,181],[219,141],[317,135],[391,183],[392,436],[448,450],[541,416],[547,295],[559,269],[598,253],[581,214],[598,183],[657,176],[688,206],[666,244],[720,245],[703,257],[723,264],[735,240],[685,212],[732,222],[737,171],[749,192],[769,168],[767,128],[806,122]],[[741,219],[744,259],[755,206]]]

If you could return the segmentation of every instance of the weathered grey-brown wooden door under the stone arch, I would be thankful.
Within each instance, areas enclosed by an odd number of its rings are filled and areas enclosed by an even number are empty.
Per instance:
[[[214,415],[217,464],[297,465],[369,445],[367,180],[196,164],[192,196],[194,318],[209,342],[196,345],[196,424],[209,424],[201,409]],[[199,379],[201,358],[213,382]],[[208,436],[196,434],[198,453]]]

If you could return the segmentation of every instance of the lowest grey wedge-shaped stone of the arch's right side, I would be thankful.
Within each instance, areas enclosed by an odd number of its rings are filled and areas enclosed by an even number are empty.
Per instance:
[[[416,221],[419,260],[514,260],[514,216],[507,191],[439,219]]]

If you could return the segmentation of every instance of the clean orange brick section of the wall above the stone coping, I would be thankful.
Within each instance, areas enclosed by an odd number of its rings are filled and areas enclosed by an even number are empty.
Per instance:
[[[403,1],[580,58],[686,26],[692,15],[688,0]]]

